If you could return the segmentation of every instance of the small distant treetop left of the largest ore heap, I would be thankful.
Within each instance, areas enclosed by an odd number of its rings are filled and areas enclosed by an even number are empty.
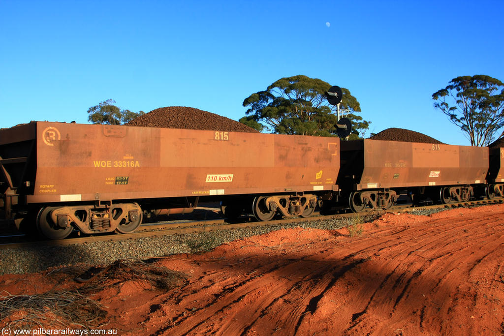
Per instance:
[[[88,121],[99,124],[121,125],[145,114],[144,111],[135,113],[130,110],[121,110],[113,104],[115,104],[115,100],[108,99],[90,107],[88,109]]]

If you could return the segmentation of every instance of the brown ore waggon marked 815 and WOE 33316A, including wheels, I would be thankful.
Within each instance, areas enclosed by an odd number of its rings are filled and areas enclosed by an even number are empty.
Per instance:
[[[51,239],[134,231],[221,200],[226,216],[310,216],[338,191],[339,138],[30,122],[0,130],[0,216]],[[326,198],[330,198],[326,196]]]

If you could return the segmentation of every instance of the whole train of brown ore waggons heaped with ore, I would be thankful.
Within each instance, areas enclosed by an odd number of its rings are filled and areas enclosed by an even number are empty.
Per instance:
[[[350,128],[335,125],[343,138]],[[387,209],[400,194],[414,204],[502,197],[502,147],[446,145],[401,128],[341,142],[264,134],[190,107],[121,126],[37,121],[0,129],[0,217],[61,239],[74,228],[133,232],[144,216],[202,201],[219,201],[227,218],[268,221],[317,207]]]

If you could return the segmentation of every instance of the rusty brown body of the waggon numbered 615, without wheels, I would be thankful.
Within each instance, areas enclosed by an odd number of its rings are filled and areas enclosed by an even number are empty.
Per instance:
[[[366,139],[342,142],[341,151],[338,183],[355,190],[479,184],[488,171],[486,147]]]

